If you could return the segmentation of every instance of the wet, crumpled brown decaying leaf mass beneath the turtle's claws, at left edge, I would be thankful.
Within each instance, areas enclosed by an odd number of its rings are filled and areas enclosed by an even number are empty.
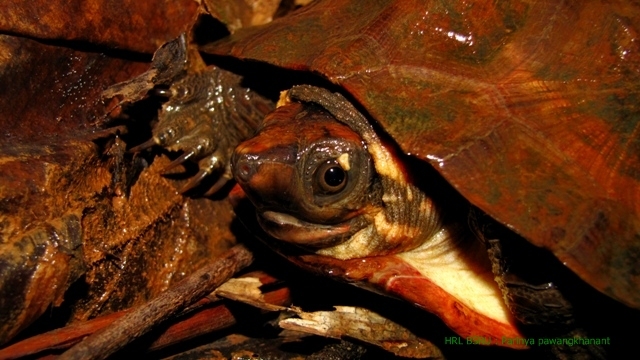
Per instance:
[[[234,244],[229,201],[104,130],[102,91],[147,68],[0,35],[0,343],[63,301],[70,322],[142,304]]]

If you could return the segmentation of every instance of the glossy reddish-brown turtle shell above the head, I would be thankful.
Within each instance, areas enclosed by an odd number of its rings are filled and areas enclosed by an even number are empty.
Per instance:
[[[327,0],[207,45],[313,71],[471,203],[640,308],[640,6]]]

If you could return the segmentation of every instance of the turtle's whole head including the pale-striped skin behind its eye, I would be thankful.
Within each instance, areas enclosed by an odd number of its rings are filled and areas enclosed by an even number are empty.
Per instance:
[[[305,89],[311,99],[294,97]],[[367,120],[341,111],[343,103],[313,87],[286,93],[258,134],[236,148],[236,180],[276,239],[338,259],[418,246],[439,229],[433,204],[407,183]]]

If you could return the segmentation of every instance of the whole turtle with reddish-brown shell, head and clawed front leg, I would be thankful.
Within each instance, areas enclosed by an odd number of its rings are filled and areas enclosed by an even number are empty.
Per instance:
[[[317,1],[200,50],[324,85],[292,87],[257,124],[268,101],[239,77],[221,90],[225,71],[209,68],[164,93],[136,150],[201,159],[187,188],[224,169],[214,189],[235,178],[294,262],[404,298],[461,336],[520,347],[505,343],[523,337],[518,321],[551,308],[547,319],[569,323],[571,306],[555,284],[514,277],[509,243],[474,231],[457,204],[529,244],[525,258],[543,251],[639,309],[637,24],[640,7],[623,1]],[[189,119],[214,118],[212,130],[171,120],[193,104],[190,86],[210,89],[196,99],[209,107],[194,108],[215,114]],[[244,110],[225,117],[213,103]]]

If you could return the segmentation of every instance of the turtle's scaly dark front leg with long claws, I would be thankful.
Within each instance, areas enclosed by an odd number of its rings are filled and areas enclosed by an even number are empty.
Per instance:
[[[165,170],[192,160],[198,162],[199,172],[181,192],[221,171],[207,194],[216,192],[233,177],[230,158],[234,148],[253,135],[262,118],[274,107],[270,100],[242,87],[241,81],[239,75],[210,66],[173,83],[160,92],[169,100],[162,106],[152,138],[132,150],[159,145],[182,151]]]

